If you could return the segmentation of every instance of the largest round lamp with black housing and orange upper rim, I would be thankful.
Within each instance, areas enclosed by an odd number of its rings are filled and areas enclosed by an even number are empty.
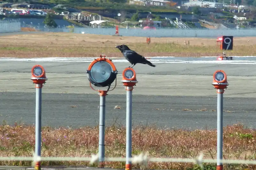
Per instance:
[[[96,87],[110,87],[118,73],[111,59],[105,57],[100,55],[100,58],[94,59],[86,71],[88,80]]]

